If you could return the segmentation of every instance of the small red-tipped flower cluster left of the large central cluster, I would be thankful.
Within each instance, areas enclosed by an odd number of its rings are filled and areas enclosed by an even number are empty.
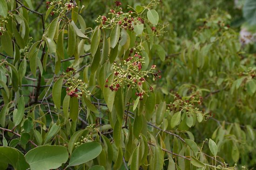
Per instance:
[[[75,98],[81,98],[82,95],[90,96],[91,93],[87,90],[88,86],[81,79],[74,77],[75,72],[75,68],[67,67],[66,73],[63,73],[65,78],[67,78],[67,95]]]

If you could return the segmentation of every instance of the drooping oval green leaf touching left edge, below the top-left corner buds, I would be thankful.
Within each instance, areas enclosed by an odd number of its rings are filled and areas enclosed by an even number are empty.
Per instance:
[[[0,0],[1,3],[1,0]],[[1,6],[1,5],[0,5]],[[1,8],[1,7],[0,7]],[[1,9],[0,9],[1,10]],[[1,35],[1,45],[3,50],[10,56],[13,57],[13,42],[8,32],[5,32]]]

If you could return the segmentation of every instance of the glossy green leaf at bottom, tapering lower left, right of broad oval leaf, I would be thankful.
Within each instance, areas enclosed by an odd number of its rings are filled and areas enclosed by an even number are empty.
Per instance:
[[[67,167],[86,163],[94,159],[98,155],[100,155],[101,150],[102,150],[101,144],[97,142],[89,142],[89,143],[81,144],[72,153]]]

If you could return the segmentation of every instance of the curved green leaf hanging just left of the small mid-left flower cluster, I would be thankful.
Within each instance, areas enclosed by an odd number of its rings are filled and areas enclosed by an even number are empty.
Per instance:
[[[61,108],[61,89],[63,83],[63,77],[59,78],[53,86],[53,101],[58,109]]]

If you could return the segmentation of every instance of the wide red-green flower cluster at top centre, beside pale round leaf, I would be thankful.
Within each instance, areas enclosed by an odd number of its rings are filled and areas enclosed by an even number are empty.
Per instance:
[[[121,6],[121,2],[115,1],[115,9],[110,9],[109,17],[99,16],[95,22],[101,23],[102,28],[113,28],[116,24],[118,24],[121,28],[133,30],[134,25],[143,24],[144,20],[140,17],[133,16],[133,12],[129,11],[128,13],[123,13]]]

